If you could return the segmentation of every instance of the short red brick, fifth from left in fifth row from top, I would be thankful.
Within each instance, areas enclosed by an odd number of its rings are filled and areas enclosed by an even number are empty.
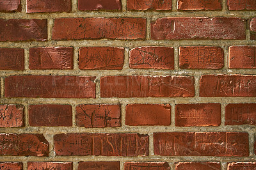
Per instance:
[[[175,107],[177,127],[217,127],[220,124],[220,104],[177,104]]]

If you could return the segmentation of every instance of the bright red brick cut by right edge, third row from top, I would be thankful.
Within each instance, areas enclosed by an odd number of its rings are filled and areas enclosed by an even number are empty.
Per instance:
[[[256,46],[231,46],[228,49],[228,68],[256,68]]]

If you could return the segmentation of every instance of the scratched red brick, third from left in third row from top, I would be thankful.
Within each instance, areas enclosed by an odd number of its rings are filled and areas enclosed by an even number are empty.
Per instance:
[[[124,47],[81,47],[79,68],[81,70],[122,70]]]

